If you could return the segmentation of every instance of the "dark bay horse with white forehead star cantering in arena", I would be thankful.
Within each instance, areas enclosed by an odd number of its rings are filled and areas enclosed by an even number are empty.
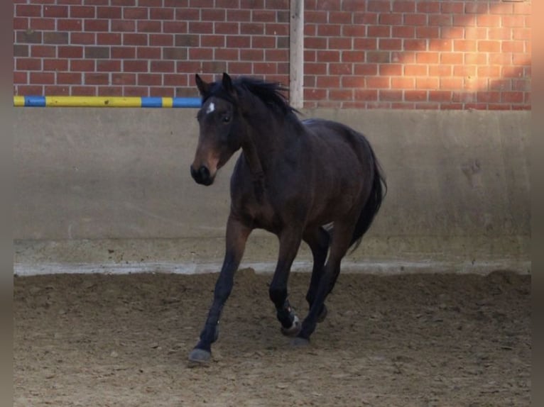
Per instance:
[[[189,359],[210,359],[234,272],[255,228],[274,233],[280,242],[269,294],[281,331],[295,337],[295,344],[308,343],[327,314],[325,299],[342,257],[349,247],[357,247],[385,194],[374,152],[363,135],[341,123],[300,121],[280,84],[232,79],[226,73],[217,82],[207,83],[198,74],[195,79],[202,108],[192,177],[198,184],[211,185],[234,152],[241,148],[242,153],[231,178],[223,266],[200,341]],[[310,311],[300,323],[289,304],[287,285],[302,241],[312,250],[313,269],[306,295]]]

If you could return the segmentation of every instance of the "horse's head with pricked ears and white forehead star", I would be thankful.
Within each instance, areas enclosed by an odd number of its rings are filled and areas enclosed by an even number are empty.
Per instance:
[[[200,135],[191,175],[198,184],[211,185],[217,170],[241,147],[236,89],[226,73],[220,82],[206,83],[198,74],[195,81],[202,107],[197,114]]]

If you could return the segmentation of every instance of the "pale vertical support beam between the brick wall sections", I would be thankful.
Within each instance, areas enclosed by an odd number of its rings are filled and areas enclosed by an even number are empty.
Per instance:
[[[304,0],[290,0],[289,103],[304,106]]]

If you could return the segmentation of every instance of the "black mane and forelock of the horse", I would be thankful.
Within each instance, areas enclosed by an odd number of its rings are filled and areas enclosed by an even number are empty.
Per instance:
[[[271,108],[278,109],[281,113],[288,115],[289,113],[299,113],[298,110],[290,106],[287,98],[282,93],[288,91],[288,88],[283,87],[279,82],[266,82],[262,79],[256,79],[253,77],[237,77],[232,80],[232,85],[236,89],[236,94],[239,97],[244,96],[244,92],[249,92],[261,99],[261,101]],[[236,103],[232,95],[224,91],[222,82],[216,81],[211,84],[210,91],[202,99],[202,103],[210,96],[217,96],[222,99],[226,99],[231,103]]]

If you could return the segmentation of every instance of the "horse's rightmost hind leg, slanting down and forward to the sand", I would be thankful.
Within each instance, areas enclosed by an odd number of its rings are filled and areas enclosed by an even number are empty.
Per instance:
[[[310,340],[310,335],[312,335],[315,330],[325,299],[330,291],[332,291],[334,283],[337,280],[340,272],[340,262],[342,262],[342,257],[346,255],[349,248],[353,230],[354,222],[352,221],[334,223],[334,236],[332,237],[330,245],[330,255],[323,269],[319,284],[317,285],[315,299],[310,307],[310,312],[308,312],[308,316],[306,316],[303,321],[300,333],[298,333],[297,338],[295,338],[295,344],[305,344]]]

